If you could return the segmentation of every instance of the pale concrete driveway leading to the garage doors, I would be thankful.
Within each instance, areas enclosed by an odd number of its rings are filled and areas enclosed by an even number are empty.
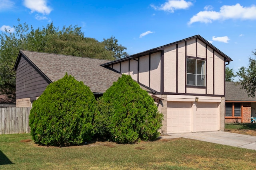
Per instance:
[[[175,133],[160,136],[160,139],[172,139],[178,137],[256,150],[256,136],[241,135],[238,133],[223,131]]]

